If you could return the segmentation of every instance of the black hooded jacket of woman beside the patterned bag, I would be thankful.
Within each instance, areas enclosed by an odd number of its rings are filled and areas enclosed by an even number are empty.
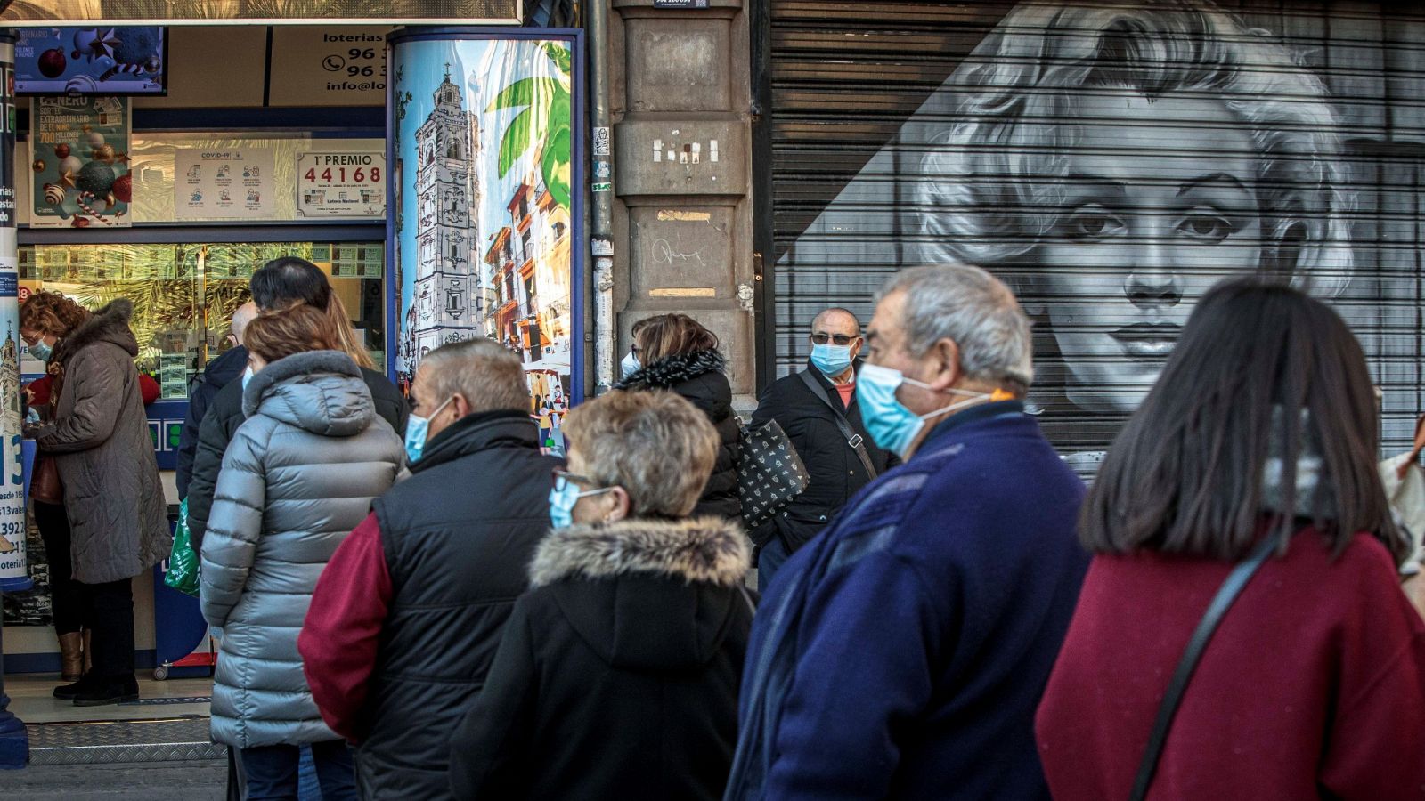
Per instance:
[[[703,409],[712,420],[721,446],[693,515],[718,515],[737,520],[742,513],[742,502],[737,495],[742,430],[732,415],[732,385],[722,372],[725,366],[727,361],[717,351],[675,353],[628,375],[614,389],[671,389]]]

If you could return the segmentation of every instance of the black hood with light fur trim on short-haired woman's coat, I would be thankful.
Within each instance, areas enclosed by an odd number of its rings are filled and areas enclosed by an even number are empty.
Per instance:
[[[610,667],[695,670],[747,626],[747,537],[720,517],[570,526],[540,543],[529,597]]]

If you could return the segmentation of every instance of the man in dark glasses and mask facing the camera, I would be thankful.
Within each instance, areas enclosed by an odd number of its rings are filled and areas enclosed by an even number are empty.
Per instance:
[[[807,544],[861,487],[893,458],[876,448],[856,405],[861,322],[831,308],[811,322],[807,369],[767,388],[752,425],[775,419],[797,448],[811,482],[807,490],[752,532],[758,544],[757,583],[767,587],[777,569]]]

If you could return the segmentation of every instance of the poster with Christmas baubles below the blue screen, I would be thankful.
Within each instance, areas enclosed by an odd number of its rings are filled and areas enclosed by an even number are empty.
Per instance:
[[[128,228],[127,97],[36,97],[31,228]]]

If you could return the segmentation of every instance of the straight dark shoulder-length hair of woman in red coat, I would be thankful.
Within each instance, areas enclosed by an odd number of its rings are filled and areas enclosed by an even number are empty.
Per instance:
[[[1267,510],[1274,433],[1280,509],[1302,507],[1297,459],[1304,442],[1317,445],[1308,515]],[[1408,542],[1391,520],[1377,449],[1371,375],[1340,315],[1280,284],[1223,284],[1198,302],[1157,385],[1114,439],[1084,502],[1080,537],[1096,553],[1238,560],[1264,519],[1287,533],[1304,516],[1337,553],[1371,532],[1404,562]]]

